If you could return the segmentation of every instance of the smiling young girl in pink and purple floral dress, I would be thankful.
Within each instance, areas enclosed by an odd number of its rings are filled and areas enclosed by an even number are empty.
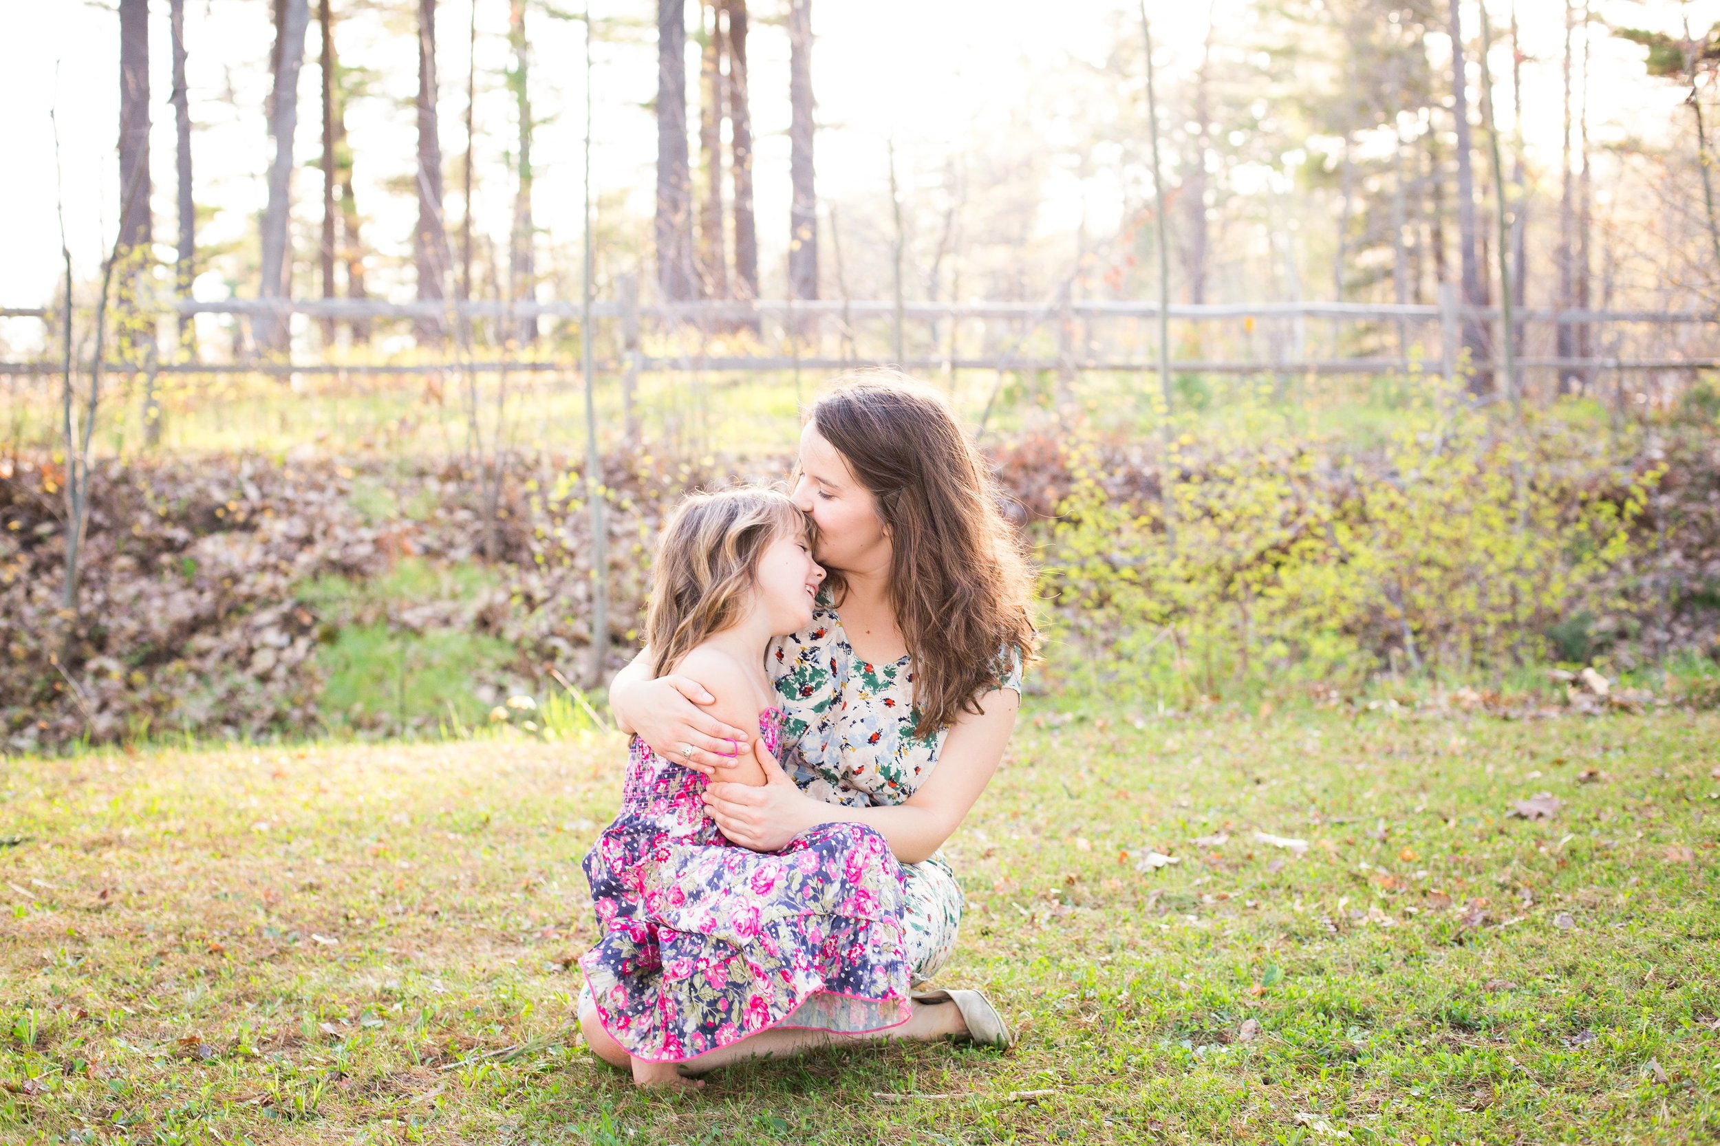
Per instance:
[[[767,647],[810,625],[824,580],[805,514],[764,489],[688,497],[654,578],[654,676],[691,676],[717,699],[707,711],[759,728],[774,754],[783,714]],[[755,761],[736,773],[765,783]],[[621,810],[585,857],[602,936],[580,960],[602,1027],[592,1034],[655,1086],[683,1084],[676,1063],[767,1027],[906,1022],[903,872],[884,838],[831,823],[748,852],[712,823],[703,790],[703,774],[633,738]]]

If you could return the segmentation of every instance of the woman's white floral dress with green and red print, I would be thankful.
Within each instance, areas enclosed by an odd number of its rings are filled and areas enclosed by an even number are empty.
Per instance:
[[[783,764],[807,795],[848,807],[901,804],[937,767],[949,730],[913,735],[912,657],[860,661],[827,595],[808,628],[774,644],[769,664],[784,712]],[[998,687],[1022,692],[1020,650],[999,652]],[[955,952],[961,888],[941,852],[903,872],[908,964],[924,983]]]

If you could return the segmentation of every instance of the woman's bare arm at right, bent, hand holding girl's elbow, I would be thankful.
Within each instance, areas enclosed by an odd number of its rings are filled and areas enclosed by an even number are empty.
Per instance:
[[[965,712],[949,728],[931,779],[903,804],[826,804],[796,788],[779,766],[767,764],[769,783],[764,788],[714,783],[705,788],[705,805],[722,835],[753,852],[776,852],[819,824],[853,823],[877,829],[903,864],[918,864],[944,845],[991,783],[1020,704],[1022,697],[1013,688],[980,697],[980,711]],[[764,764],[769,757],[760,755]]]

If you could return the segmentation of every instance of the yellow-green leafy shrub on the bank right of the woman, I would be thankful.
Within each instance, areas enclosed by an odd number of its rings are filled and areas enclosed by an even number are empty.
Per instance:
[[[1090,439],[1070,446],[1046,554],[1053,671],[1187,704],[1581,659],[1588,597],[1660,477],[1560,422],[1464,406],[1405,411],[1369,465],[1297,447],[1187,465],[1192,444],[1158,499],[1115,492]]]

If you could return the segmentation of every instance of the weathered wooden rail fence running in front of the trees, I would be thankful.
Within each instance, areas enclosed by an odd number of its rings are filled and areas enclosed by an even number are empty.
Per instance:
[[[593,320],[619,322],[623,353],[619,358],[609,356],[595,363],[595,370],[612,372],[664,372],[664,370],[700,370],[700,372],[748,372],[748,370],[845,370],[869,365],[898,365],[905,370],[998,370],[998,372],[1063,372],[1080,373],[1099,372],[1156,372],[1158,360],[1152,354],[1096,354],[1089,348],[1077,344],[1073,327],[1077,322],[1094,323],[1104,320],[1146,320],[1158,318],[1159,303],[1140,299],[1072,299],[1065,294],[1053,303],[896,303],[874,299],[760,299],[760,301],[697,301],[697,303],[642,303],[636,286],[624,289],[619,298],[599,299],[592,305]],[[406,301],[390,303],[382,299],[179,299],[163,317],[193,315],[234,315],[249,322],[261,318],[291,318],[303,315],[313,322],[354,322],[354,320],[413,320],[442,322],[447,329],[459,323],[495,322],[511,325],[530,318],[550,318],[561,322],[578,322],[581,306],[574,301],[549,303],[504,303],[504,301]],[[0,308],[0,318],[40,318],[53,329],[60,311],[52,308]],[[1366,354],[1366,356],[1326,356],[1309,358],[1305,354],[1276,354],[1268,360],[1173,360],[1170,368],[1176,373],[1233,373],[1233,375],[1326,375],[1326,373],[1390,373],[1419,370],[1438,373],[1453,380],[1459,365],[1459,329],[1464,320],[1484,323],[1490,330],[1490,342],[1495,351],[1493,361],[1481,363],[1495,373],[1503,370],[1500,353],[1503,339],[1498,325],[1502,315],[1493,306],[1460,306],[1455,289],[1443,287],[1440,305],[1381,305],[1381,303],[1207,303],[1178,305],[1171,303],[1170,318],[1189,323],[1249,323],[1252,330],[1259,323],[1379,323],[1397,327],[1400,353]],[[936,354],[922,353],[905,361],[894,361],[888,354],[860,353],[855,348],[853,330],[862,320],[886,320],[893,329],[903,323],[931,323],[936,330],[939,323],[963,320],[1003,320],[1013,323],[1013,344],[1001,346],[986,354]],[[753,329],[771,322],[779,327],[784,337],[771,353],[736,354],[731,351],[705,353],[688,351],[676,354],[643,353],[642,332],[648,327],[659,330],[679,329],[716,336],[743,325]],[[848,351],[838,356],[820,353],[817,334],[836,323],[846,334]],[[1046,327],[1056,332],[1056,353],[1046,356],[1023,353],[1027,341]],[[1416,354],[1409,329],[1438,327],[1438,354]],[[1601,332],[1615,332],[1619,327],[1644,325],[1660,329],[1684,329],[1694,332],[1699,346],[1689,348],[1686,354],[1636,354],[1622,356],[1591,354],[1584,358],[1557,354],[1526,354],[1519,351],[1517,367],[1520,370],[1574,370],[1574,372],[1644,372],[1644,370],[1720,370],[1720,313],[1717,311],[1658,311],[1658,310],[1519,310],[1514,311],[1514,325],[1519,332],[1531,327],[1589,327]],[[470,327],[468,327],[470,329]],[[800,332],[800,337],[788,337]],[[810,332],[810,337],[808,337]],[[1526,334],[1519,336],[1527,341]],[[710,337],[700,339],[703,346]],[[1300,344],[1302,339],[1292,339]],[[1608,339],[1598,337],[1596,344]],[[1689,337],[1686,337],[1689,341]],[[447,342],[459,342],[449,339]],[[936,342],[936,337],[934,337]],[[891,346],[900,346],[900,330],[891,339]],[[951,344],[953,346],[953,344]],[[807,353],[798,353],[807,348]],[[427,372],[571,372],[578,373],[574,358],[542,358],[511,353],[499,356],[494,348],[483,351],[458,353],[447,356],[445,346],[439,351],[440,360],[382,361],[382,363],[327,363],[318,360],[294,360],[289,356],[256,356],[225,363],[201,361],[162,361],[107,363],[105,370],[115,373],[337,373],[337,375],[413,375]],[[48,377],[62,368],[62,361],[40,358],[31,361],[0,361],[0,375]]]

